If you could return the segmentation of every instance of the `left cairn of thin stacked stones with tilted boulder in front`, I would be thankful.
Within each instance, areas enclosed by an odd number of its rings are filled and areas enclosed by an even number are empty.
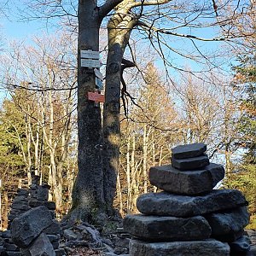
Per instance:
[[[55,202],[48,201],[49,185],[32,177],[30,189],[18,189],[9,212],[8,230],[0,234],[0,255],[66,255],[59,248],[60,224]]]

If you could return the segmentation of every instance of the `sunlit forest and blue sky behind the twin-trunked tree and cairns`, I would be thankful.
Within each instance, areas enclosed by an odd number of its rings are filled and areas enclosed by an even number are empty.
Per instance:
[[[34,1],[38,6],[43,2]],[[178,144],[203,142],[210,159],[225,167],[220,186],[241,189],[247,196],[255,228],[256,6],[239,2],[219,1],[217,13],[217,2],[205,1],[201,14],[208,12],[220,26],[209,21],[199,43],[188,37],[191,33],[167,41],[140,29],[133,32],[125,57],[136,67],[125,69],[120,99],[124,108],[115,207],[122,216],[137,212],[138,195],[156,191],[148,183],[150,166],[170,163],[171,148]],[[72,206],[78,172],[76,15],[44,20],[36,4],[14,9],[10,3],[0,7],[3,19],[35,19],[45,29],[21,41],[10,41],[2,32],[1,229],[7,226],[15,190],[31,182],[32,172],[51,185],[50,199],[60,218]],[[60,4],[65,11],[75,9]],[[236,14],[231,25],[223,26],[220,20],[230,17],[231,4],[236,4]],[[185,8],[180,3],[180,16],[189,19]],[[183,33],[200,27],[191,20]],[[229,40],[216,40],[216,35]],[[102,26],[102,73],[107,37]]]

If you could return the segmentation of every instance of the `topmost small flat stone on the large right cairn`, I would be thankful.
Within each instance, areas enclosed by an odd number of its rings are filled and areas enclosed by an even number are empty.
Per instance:
[[[193,143],[180,145],[172,148],[172,157],[175,159],[183,159],[200,156],[207,151],[207,145],[204,143]]]

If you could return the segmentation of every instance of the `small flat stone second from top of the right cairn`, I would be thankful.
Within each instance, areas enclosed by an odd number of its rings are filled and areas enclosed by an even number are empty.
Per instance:
[[[209,165],[209,158],[207,154],[185,159],[175,159],[172,157],[172,167],[180,171],[196,170]]]

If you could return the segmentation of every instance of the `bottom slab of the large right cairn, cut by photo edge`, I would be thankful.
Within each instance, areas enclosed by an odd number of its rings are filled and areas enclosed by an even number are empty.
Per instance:
[[[213,239],[172,242],[131,240],[129,252],[131,256],[229,256],[230,247]]]

